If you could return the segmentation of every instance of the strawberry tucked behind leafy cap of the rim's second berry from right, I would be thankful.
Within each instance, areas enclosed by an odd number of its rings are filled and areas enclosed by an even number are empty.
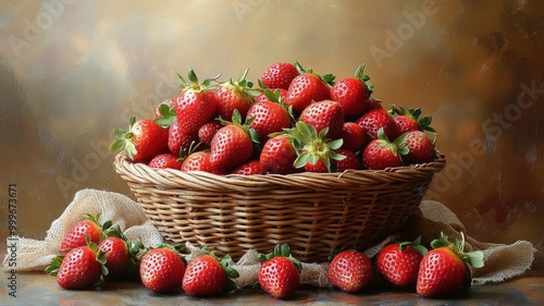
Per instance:
[[[356,123],[364,130],[367,143],[378,138],[380,128],[383,128],[390,139],[395,139],[397,136],[395,120],[385,109],[371,110],[361,115]]]

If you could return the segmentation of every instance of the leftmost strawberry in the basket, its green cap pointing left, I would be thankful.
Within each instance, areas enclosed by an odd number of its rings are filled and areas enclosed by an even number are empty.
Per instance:
[[[134,162],[148,163],[153,157],[168,151],[169,128],[163,128],[151,119],[136,121],[131,117],[128,132],[120,127],[114,131],[116,139],[111,150],[126,150]]]

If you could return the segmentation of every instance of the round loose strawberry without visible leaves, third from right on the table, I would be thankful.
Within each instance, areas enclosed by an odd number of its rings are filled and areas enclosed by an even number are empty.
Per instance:
[[[342,291],[359,292],[372,281],[372,261],[364,253],[343,250],[331,260],[327,277],[329,281]]]

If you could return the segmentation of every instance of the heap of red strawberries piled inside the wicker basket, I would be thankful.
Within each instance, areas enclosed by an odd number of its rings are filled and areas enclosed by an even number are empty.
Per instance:
[[[151,118],[115,128],[112,150],[152,168],[215,174],[288,174],[380,170],[432,161],[435,137],[421,109],[386,110],[358,66],[335,81],[311,69],[279,62],[258,79],[199,81],[180,76],[177,97]]]

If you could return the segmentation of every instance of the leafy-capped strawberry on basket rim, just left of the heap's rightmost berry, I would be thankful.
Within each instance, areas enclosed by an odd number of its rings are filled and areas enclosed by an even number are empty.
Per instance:
[[[399,146],[404,142],[404,137],[397,138],[391,143],[383,132],[383,128],[378,131],[378,139],[370,142],[362,151],[362,166],[366,169],[383,170],[388,167],[399,167],[403,164],[401,155],[406,155],[408,148]]]

